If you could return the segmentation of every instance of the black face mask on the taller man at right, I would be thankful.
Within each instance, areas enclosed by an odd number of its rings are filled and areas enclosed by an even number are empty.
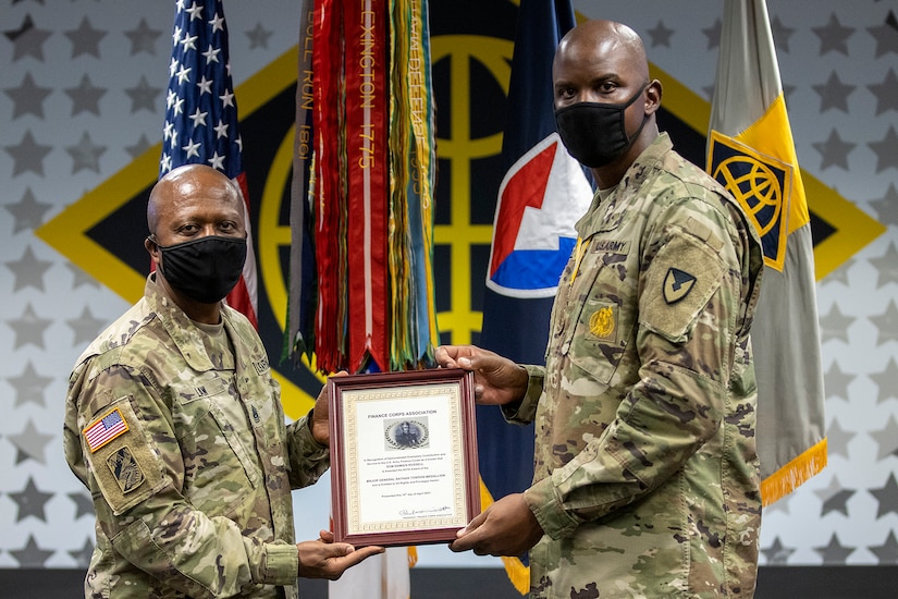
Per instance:
[[[580,163],[595,169],[624,155],[639,137],[648,115],[632,137],[627,137],[625,111],[647,85],[624,103],[578,102],[555,111],[555,124],[567,151]]]

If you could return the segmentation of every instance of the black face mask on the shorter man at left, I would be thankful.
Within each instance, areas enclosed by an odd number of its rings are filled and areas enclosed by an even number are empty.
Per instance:
[[[152,236],[150,240],[156,243]],[[159,270],[169,284],[204,304],[214,304],[231,293],[246,261],[246,237],[209,235],[157,246],[162,253]]]

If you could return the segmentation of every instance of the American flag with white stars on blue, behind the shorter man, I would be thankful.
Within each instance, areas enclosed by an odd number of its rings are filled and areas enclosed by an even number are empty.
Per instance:
[[[227,304],[257,326],[256,254],[249,230],[249,194],[242,163],[243,143],[221,0],[175,2],[169,77],[159,176],[182,164],[199,162],[218,169],[239,184],[248,234],[247,255],[243,277],[227,295]]]

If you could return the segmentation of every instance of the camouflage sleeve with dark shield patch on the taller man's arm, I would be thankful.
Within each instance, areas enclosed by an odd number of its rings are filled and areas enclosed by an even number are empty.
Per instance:
[[[525,498],[552,538],[650,492],[724,417],[740,306],[740,245],[719,211],[671,209],[643,240],[639,371],[602,433]]]

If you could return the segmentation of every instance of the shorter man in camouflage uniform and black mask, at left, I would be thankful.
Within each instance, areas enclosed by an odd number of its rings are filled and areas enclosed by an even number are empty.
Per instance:
[[[380,548],[294,540],[291,489],[329,466],[328,404],[285,426],[259,335],[221,303],[239,278],[239,188],[182,167],[150,194],[144,297],[78,358],[65,456],[90,490],[88,598],[297,597]]]

